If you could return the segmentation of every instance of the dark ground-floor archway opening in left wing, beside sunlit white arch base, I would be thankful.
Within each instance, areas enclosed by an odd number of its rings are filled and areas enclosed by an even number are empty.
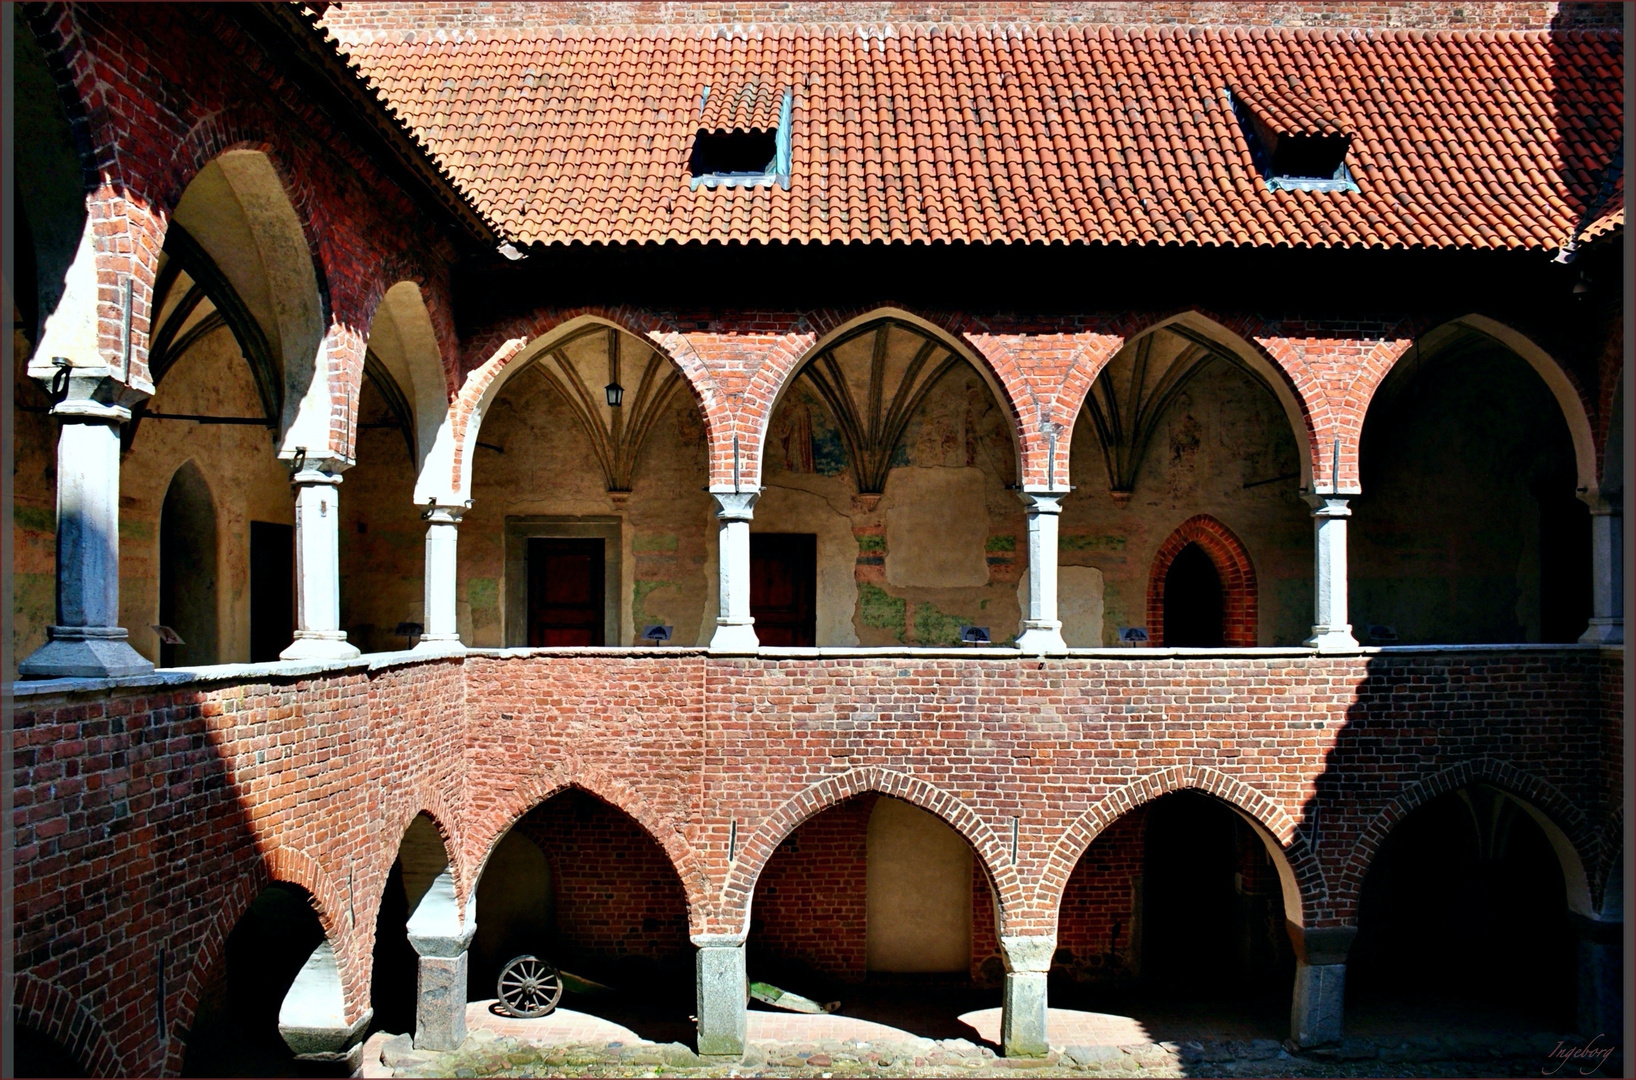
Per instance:
[[[278,1034],[278,1010],[324,941],[311,895],[273,882],[227,934],[187,1036],[185,1077],[294,1077],[303,1067]]]

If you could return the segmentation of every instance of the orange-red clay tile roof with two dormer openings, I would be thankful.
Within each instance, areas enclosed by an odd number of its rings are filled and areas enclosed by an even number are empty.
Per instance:
[[[1620,49],[1616,31],[960,26],[353,56],[519,242],[1557,249],[1618,146]],[[703,87],[751,82],[757,118],[793,90],[790,190],[689,190]],[[1229,85],[1351,133],[1360,190],[1270,191]]]

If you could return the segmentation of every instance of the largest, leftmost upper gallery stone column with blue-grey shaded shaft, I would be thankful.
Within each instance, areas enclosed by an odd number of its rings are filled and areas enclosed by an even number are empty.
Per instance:
[[[41,380],[46,381],[46,380]],[[119,627],[119,425],[146,398],[108,368],[62,368],[47,388],[57,434],[57,620],[18,664],[25,679],[144,674]]]

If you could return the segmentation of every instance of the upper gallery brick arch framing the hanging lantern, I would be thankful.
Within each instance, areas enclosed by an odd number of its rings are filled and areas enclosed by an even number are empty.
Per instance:
[[[420,483],[416,484],[416,501],[471,497],[471,450],[483,424],[483,409],[555,339],[591,324],[610,326],[645,340],[676,365],[705,424],[710,476],[717,476],[723,463],[731,468],[733,419],[725,394],[718,391],[705,362],[674,322],[636,308],[546,309],[509,319],[470,342],[465,355],[471,370],[448,407],[447,437],[443,432],[438,434],[438,448],[425,460]]]

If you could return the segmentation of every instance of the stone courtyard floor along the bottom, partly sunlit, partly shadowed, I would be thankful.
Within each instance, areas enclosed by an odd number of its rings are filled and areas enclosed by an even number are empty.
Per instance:
[[[1360,1008],[1338,1047],[1292,1051],[1279,1018],[1255,1000],[1126,1011],[1052,1008],[1052,1054],[998,1055],[996,992],[906,995],[859,992],[834,1015],[753,1008],[739,1060],[699,1059],[684,1016],[558,1008],[514,1019],[492,1001],[466,1008],[471,1037],[458,1051],[414,1051],[407,1036],[376,1033],[365,1077],[1579,1077],[1615,1075],[1615,1062],[1553,1057],[1575,1036],[1495,1008],[1436,1001]],[[973,1006],[977,1005],[977,1006]],[[1078,1003],[1075,1003],[1078,1005]],[[1608,1039],[1593,1044],[1608,1046]]]

